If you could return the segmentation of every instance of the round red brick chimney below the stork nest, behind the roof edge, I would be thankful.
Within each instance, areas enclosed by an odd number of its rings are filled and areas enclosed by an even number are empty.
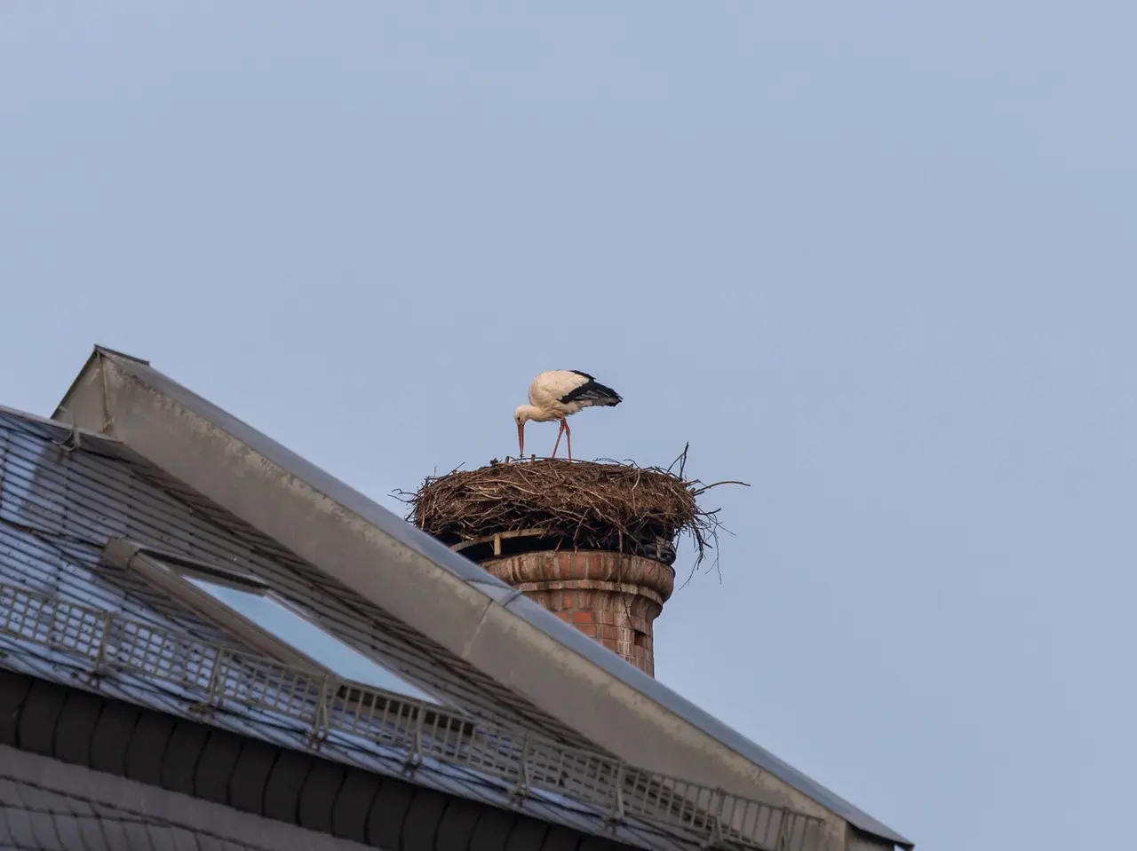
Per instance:
[[[672,568],[617,552],[526,552],[481,565],[655,676],[652,624],[675,586]]]

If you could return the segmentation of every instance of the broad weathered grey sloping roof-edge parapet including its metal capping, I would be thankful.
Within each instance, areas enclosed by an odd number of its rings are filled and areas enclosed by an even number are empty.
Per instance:
[[[144,362],[97,350],[61,406],[600,746],[912,846],[540,607],[496,602],[508,586],[478,565]]]

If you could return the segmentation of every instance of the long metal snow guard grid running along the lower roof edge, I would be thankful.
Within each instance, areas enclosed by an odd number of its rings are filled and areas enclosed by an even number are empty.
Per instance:
[[[823,839],[821,819],[785,807],[0,583],[5,633],[84,659],[94,676],[117,669],[164,681],[198,698],[201,711],[226,701],[256,707],[300,721],[317,746],[330,734],[348,736],[348,745],[373,742],[404,751],[409,770],[424,758],[463,766],[513,784],[518,798],[547,790],[608,820],[626,815],[666,825],[704,848],[814,851]]]

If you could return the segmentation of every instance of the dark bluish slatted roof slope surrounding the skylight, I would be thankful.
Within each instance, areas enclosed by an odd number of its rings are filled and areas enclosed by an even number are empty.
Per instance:
[[[330,629],[358,636],[366,623],[322,604],[326,590],[318,577],[307,575],[310,568],[117,441],[81,433],[76,444],[74,434],[60,424],[0,408],[5,667],[66,689],[92,687],[97,682],[103,701],[146,707],[190,726],[204,718],[239,736],[292,751],[308,751],[308,735],[322,729],[324,760],[387,777],[389,786],[406,781],[413,756],[407,743],[415,737],[416,718],[384,711],[379,701],[367,699],[367,690],[356,690],[331,703],[333,714],[321,728],[315,701],[297,700],[298,694],[304,699],[318,691],[319,677],[259,657],[239,637],[108,558],[127,539],[202,565],[250,566],[282,594],[307,602]],[[459,660],[447,658],[445,650],[389,616],[372,612],[370,620],[368,653],[446,701],[433,716],[424,715],[426,736],[413,771],[415,785],[517,810],[625,846],[691,851],[698,845],[681,826],[671,829],[631,812],[622,824],[609,826],[603,807],[581,800],[570,789],[562,793],[537,784],[530,794],[514,800],[517,745],[526,734],[534,742],[563,741],[556,723],[549,719],[547,725],[536,709],[530,715],[524,701],[507,690],[495,693],[490,684],[478,682],[476,671],[462,668]],[[453,664],[458,669],[451,669]],[[254,668],[251,679],[232,674],[233,668]],[[217,701],[207,690],[213,682],[221,683]],[[20,724],[26,716],[44,727],[47,741],[53,741],[58,711],[25,706],[8,686],[10,682],[0,677],[0,716]],[[210,707],[206,716],[202,704]],[[468,732],[470,719],[476,724],[476,735]],[[85,725],[73,720],[69,735],[78,735],[74,729]],[[454,736],[446,734],[456,729],[463,734],[462,752],[448,750]],[[8,739],[0,728],[0,744]],[[119,739],[128,742],[132,736],[122,732]],[[582,752],[570,743],[545,751]]]

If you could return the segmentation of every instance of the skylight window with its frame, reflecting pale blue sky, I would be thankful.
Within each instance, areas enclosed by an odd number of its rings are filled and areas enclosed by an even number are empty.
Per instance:
[[[441,706],[380,660],[340,641],[252,574],[158,553],[124,539],[113,540],[103,552],[110,561],[139,573],[246,645],[284,665],[327,671],[351,683]]]

